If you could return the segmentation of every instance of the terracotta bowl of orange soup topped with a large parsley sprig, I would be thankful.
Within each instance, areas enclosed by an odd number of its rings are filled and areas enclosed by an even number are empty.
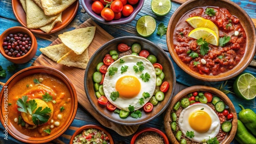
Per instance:
[[[1,123],[8,134],[26,143],[59,137],[73,122],[77,95],[60,71],[32,66],[18,71],[1,91]]]

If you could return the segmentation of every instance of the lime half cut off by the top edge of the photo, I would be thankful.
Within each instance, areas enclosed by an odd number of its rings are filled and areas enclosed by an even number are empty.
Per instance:
[[[151,1],[151,10],[156,15],[166,15],[172,8],[172,3],[170,0],[152,0]]]

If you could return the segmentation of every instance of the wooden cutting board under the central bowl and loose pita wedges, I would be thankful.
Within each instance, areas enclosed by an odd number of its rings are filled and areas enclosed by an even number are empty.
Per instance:
[[[87,21],[83,22],[82,25],[77,27],[79,28],[85,28],[85,27],[91,27],[91,26],[96,26],[96,32],[94,39],[90,46],[88,47],[88,52],[89,52],[89,58],[92,57],[94,52],[99,49],[101,45],[104,43],[110,41],[111,39],[114,39],[109,33],[104,31],[101,27],[97,25],[91,18],[88,19]],[[57,38],[54,40],[50,45],[55,45],[61,43],[61,40]],[[102,117],[91,105],[89,102],[86,92],[84,91],[84,83],[83,83],[83,78],[84,78],[84,69],[76,68],[76,67],[68,67],[65,65],[57,64],[55,61],[51,60],[47,56],[41,54],[32,64],[32,66],[49,66],[56,68],[60,70],[63,74],[65,74],[70,81],[73,83],[76,93],[77,93],[77,99],[78,103],[86,109],[88,112],[90,112],[93,117],[95,117],[99,123],[107,128],[110,128],[114,131],[116,131],[118,134],[121,136],[129,136],[132,135],[133,133],[136,132],[138,129],[139,125],[136,126],[123,126],[119,124],[112,123],[108,120],[106,120],[104,117]]]

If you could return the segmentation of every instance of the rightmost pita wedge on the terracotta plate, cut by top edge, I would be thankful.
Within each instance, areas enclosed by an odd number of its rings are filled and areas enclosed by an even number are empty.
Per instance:
[[[67,9],[76,0],[40,0],[46,15],[56,15]]]

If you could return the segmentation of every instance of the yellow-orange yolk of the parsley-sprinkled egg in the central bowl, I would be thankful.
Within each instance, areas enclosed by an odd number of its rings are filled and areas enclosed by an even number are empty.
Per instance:
[[[140,92],[140,82],[134,76],[124,76],[117,80],[116,90],[122,98],[134,98]]]

